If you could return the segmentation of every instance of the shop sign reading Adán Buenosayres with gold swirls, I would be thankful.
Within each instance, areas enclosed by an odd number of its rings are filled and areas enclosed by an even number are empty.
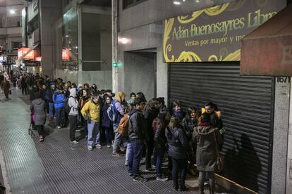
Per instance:
[[[241,0],[164,21],[164,62],[241,59],[241,39],[286,6],[286,0]]]

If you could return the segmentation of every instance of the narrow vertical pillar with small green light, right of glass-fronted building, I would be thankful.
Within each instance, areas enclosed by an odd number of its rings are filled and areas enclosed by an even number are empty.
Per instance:
[[[118,63],[118,1],[111,0],[112,63]],[[118,91],[118,67],[113,67],[113,91]]]

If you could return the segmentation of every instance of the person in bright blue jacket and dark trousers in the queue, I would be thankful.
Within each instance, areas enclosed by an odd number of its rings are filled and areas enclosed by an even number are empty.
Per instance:
[[[60,129],[65,122],[65,105],[66,105],[66,96],[63,93],[63,87],[58,86],[57,90],[53,95],[54,106],[56,110],[56,127]]]

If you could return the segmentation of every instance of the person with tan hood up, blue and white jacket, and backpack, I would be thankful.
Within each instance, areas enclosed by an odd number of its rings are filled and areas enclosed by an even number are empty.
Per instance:
[[[121,153],[121,143],[122,135],[118,133],[118,124],[121,121],[121,117],[124,115],[124,107],[122,105],[123,101],[125,101],[126,93],[123,91],[116,92],[114,96],[114,100],[111,101],[111,106],[109,107],[107,113],[109,115],[109,119],[113,122],[114,127],[114,146],[112,156],[119,157],[122,155]]]

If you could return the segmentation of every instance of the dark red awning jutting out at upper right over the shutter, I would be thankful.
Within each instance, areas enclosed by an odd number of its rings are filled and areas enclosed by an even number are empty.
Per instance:
[[[292,76],[292,4],[241,40],[241,75]]]

